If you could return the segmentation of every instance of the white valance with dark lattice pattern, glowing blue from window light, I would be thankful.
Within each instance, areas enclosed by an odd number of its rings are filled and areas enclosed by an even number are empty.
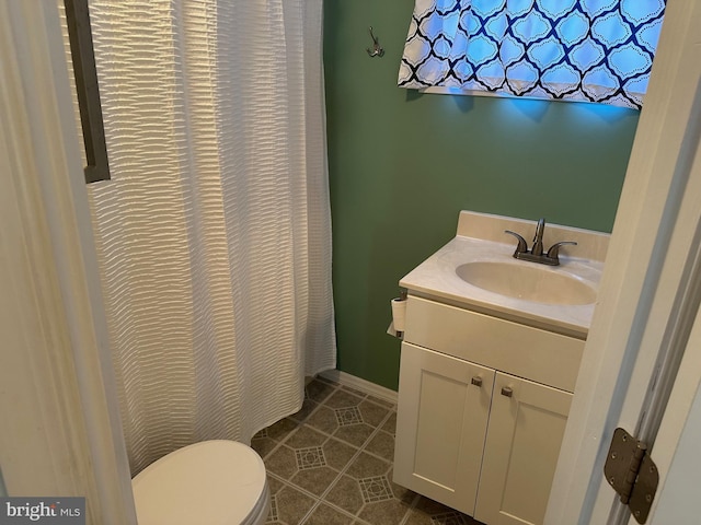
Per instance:
[[[665,0],[416,0],[402,88],[641,108]]]

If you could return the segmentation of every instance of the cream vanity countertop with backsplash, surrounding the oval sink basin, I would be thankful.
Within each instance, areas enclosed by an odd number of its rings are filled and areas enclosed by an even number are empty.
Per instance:
[[[563,247],[560,266],[549,267],[515,259],[515,242],[504,234],[504,230],[513,230],[530,240],[535,225],[532,221],[463,211],[456,237],[407,273],[400,285],[412,295],[586,339],[596,302],[550,304],[524,300],[479,288],[458,276],[457,269],[469,262],[529,265],[538,267],[544,278],[550,272],[561,273],[598,290],[609,235],[548,224],[545,249],[560,241],[578,243],[566,250]]]

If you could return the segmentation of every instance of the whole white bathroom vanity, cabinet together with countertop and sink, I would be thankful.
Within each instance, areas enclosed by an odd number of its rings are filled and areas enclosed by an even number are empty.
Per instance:
[[[560,266],[516,260],[512,230],[461,212],[458,234],[400,281],[402,342],[394,481],[487,525],[541,524],[575,388],[608,235],[574,241]]]

